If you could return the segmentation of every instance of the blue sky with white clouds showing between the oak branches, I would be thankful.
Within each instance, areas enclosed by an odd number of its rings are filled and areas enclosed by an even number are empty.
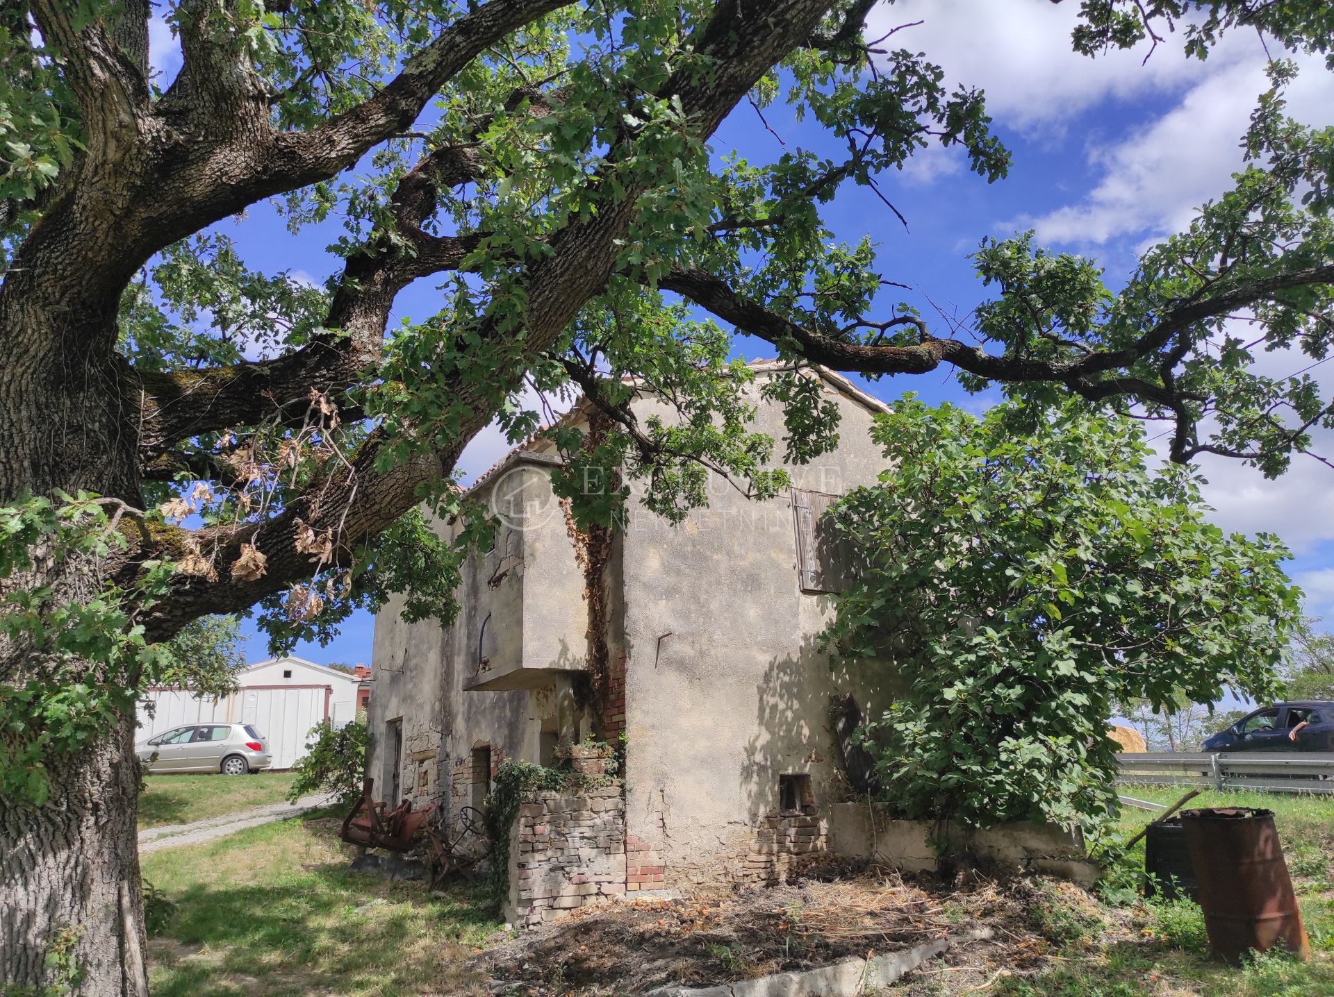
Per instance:
[[[968,173],[958,153],[938,148],[914,157],[902,173],[883,177],[886,193],[907,217],[907,231],[870,192],[848,188],[831,205],[835,233],[848,243],[870,233],[883,276],[914,288],[891,288],[886,309],[907,300],[932,321],[943,323],[940,309],[966,323],[970,309],[984,300],[968,253],[984,236],[1027,228],[1050,248],[1098,260],[1109,283],[1119,285],[1146,244],[1182,228],[1193,208],[1226,189],[1230,172],[1241,164],[1238,139],[1266,88],[1261,39],[1234,35],[1206,63],[1186,60],[1177,37],[1143,65],[1147,49],[1090,60],[1070,51],[1077,11],[1077,4],[1050,0],[906,0],[872,11],[871,37],[924,21],[888,44],[924,51],[944,68],[947,83],[984,89],[995,128],[1014,156],[1010,177],[990,185]],[[179,56],[165,28],[155,27],[153,63],[169,77]],[[1309,124],[1334,124],[1334,76],[1319,60],[1298,61],[1303,72],[1289,95],[1291,112]],[[715,152],[739,149],[763,161],[783,152],[779,139],[788,147],[822,148],[824,140],[810,124],[798,125],[782,108],[766,116],[778,137],[742,105],[715,136]],[[338,259],[325,251],[340,233],[336,221],[291,236],[271,208],[256,205],[243,220],[220,228],[252,267],[287,269],[315,281],[338,268]],[[395,319],[422,319],[438,308],[438,293],[422,281],[399,297]],[[738,352],[767,356],[764,345],[739,341]],[[1258,364],[1274,375],[1306,365],[1289,355],[1269,355]],[[1334,371],[1323,383],[1334,389]],[[943,372],[886,379],[867,389],[886,400],[915,391],[927,400],[975,409],[998,397],[967,396]],[[1334,452],[1334,439],[1323,443],[1325,453]],[[479,436],[464,455],[467,479],[507,448],[494,429]],[[1334,471],[1302,459],[1278,481],[1223,459],[1209,460],[1202,471],[1215,521],[1226,529],[1283,537],[1295,552],[1290,573],[1307,592],[1309,612],[1334,618]],[[372,628],[374,620],[358,613],[329,646],[303,645],[296,653],[315,661],[371,662]],[[263,638],[249,624],[247,632],[249,660],[265,657]]]

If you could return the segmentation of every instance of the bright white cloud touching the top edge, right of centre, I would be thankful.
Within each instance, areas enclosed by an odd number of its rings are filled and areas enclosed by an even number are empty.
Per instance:
[[[1259,51],[1254,36],[1229,40],[1201,64],[1182,55],[1177,33],[1143,65],[1149,45],[1090,59],[1071,48],[1078,13],[1078,4],[1051,0],[902,0],[871,11],[867,37],[923,21],[883,47],[926,52],[948,85],[983,89],[991,116],[1030,137],[1059,137],[1059,125],[1105,100],[1177,89],[1198,80],[1205,67],[1211,72],[1243,51]]]

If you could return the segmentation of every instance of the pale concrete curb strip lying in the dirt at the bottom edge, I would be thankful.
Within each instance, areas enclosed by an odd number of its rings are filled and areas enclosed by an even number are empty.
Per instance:
[[[799,973],[775,973],[758,980],[738,980],[720,986],[660,986],[644,997],[855,997],[867,989],[888,986],[904,973],[960,941],[982,941],[992,934],[990,928],[975,928],[963,934],[938,938],[870,960],[852,957],[831,966]]]

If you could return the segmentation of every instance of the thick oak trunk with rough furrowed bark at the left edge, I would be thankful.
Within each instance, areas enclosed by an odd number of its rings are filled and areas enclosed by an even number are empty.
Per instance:
[[[113,341],[116,297],[89,303],[71,295],[53,309],[35,287],[52,280],[52,269],[11,272],[0,293],[0,504],[59,488],[137,505],[137,441],[120,411],[123,373],[109,349],[88,349]],[[88,598],[100,586],[97,568],[41,565],[0,581],[0,594],[53,582],[71,598]],[[41,653],[0,637],[0,681],[19,685],[44,664]],[[87,672],[96,676],[97,668]],[[148,993],[135,729],[129,713],[96,744],[48,758],[44,805],[0,797],[0,990]],[[11,748],[0,740],[0,750]]]

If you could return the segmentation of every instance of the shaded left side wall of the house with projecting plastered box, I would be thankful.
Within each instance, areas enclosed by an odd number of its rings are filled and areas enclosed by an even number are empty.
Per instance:
[[[550,499],[550,468],[519,461],[516,475],[498,473],[474,493],[519,508]],[[532,506],[532,508],[539,508]],[[496,529],[491,550],[474,552],[455,593],[459,610],[450,626],[436,620],[407,624],[392,597],[375,620],[372,694],[367,722],[372,746],[367,770],[382,786],[392,774],[392,726],[402,722],[402,796],[459,808],[484,794],[506,758],[539,761],[543,730],[555,730],[558,685],[583,668],[583,578],[559,506],[554,514]],[[436,521],[442,537],[458,525]],[[480,686],[480,688],[479,688]],[[474,750],[490,749],[491,772]],[[378,793],[379,794],[379,793]]]

